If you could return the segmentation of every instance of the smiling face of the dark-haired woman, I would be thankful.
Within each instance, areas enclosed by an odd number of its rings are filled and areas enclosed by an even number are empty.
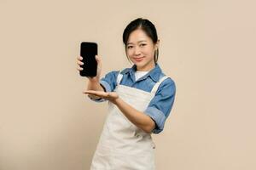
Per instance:
[[[126,45],[126,54],[132,63],[137,65],[137,71],[150,71],[154,68],[154,52],[159,42],[152,39],[141,30],[132,31]]]

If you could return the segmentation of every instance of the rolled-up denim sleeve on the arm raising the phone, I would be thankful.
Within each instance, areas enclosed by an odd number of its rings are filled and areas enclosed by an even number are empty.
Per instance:
[[[105,88],[105,92],[113,92],[113,89],[116,87],[116,78],[118,75],[119,71],[110,71],[108,74],[105,75],[105,77],[102,77],[100,80],[100,84],[103,88]],[[88,96],[90,98],[90,96]],[[103,102],[106,101],[106,99],[92,99],[93,101],[96,102]]]

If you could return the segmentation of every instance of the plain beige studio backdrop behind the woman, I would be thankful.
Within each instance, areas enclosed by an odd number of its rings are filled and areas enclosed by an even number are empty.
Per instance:
[[[130,67],[122,33],[137,17],[160,37],[177,84],[158,170],[256,169],[253,1],[0,0],[0,169],[89,169],[107,103],[82,91],[76,57],[99,44],[102,76]]]

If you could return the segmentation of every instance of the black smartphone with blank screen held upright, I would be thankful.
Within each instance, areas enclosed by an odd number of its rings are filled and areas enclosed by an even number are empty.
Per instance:
[[[98,54],[98,45],[96,42],[81,42],[80,55],[83,57],[82,62],[84,69],[80,71],[81,77],[96,77],[97,74],[97,61],[96,55]]]

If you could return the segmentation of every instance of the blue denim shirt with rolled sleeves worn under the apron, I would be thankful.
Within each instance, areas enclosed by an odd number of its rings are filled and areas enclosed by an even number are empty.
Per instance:
[[[154,69],[148,71],[146,75],[135,81],[135,71],[137,71],[136,65],[131,68],[125,68],[120,73],[123,74],[123,78],[120,84],[129,86],[131,88],[138,88],[146,92],[151,92],[154,84],[160,80],[161,77],[166,76],[160,69],[160,65],[156,64]],[[116,79],[119,71],[110,71],[105,77],[102,77],[100,84],[105,88],[106,92],[113,92],[117,85]],[[155,122],[155,128],[152,133],[160,133],[164,129],[166,118],[170,115],[172,105],[175,99],[176,85],[172,78],[166,78],[163,81],[158,90],[156,91],[154,98],[150,101],[148,108],[143,111],[150,116]],[[91,99],[91,98],[90,98]],[[106,99],[92,99],[96,102],[102,102]]]

